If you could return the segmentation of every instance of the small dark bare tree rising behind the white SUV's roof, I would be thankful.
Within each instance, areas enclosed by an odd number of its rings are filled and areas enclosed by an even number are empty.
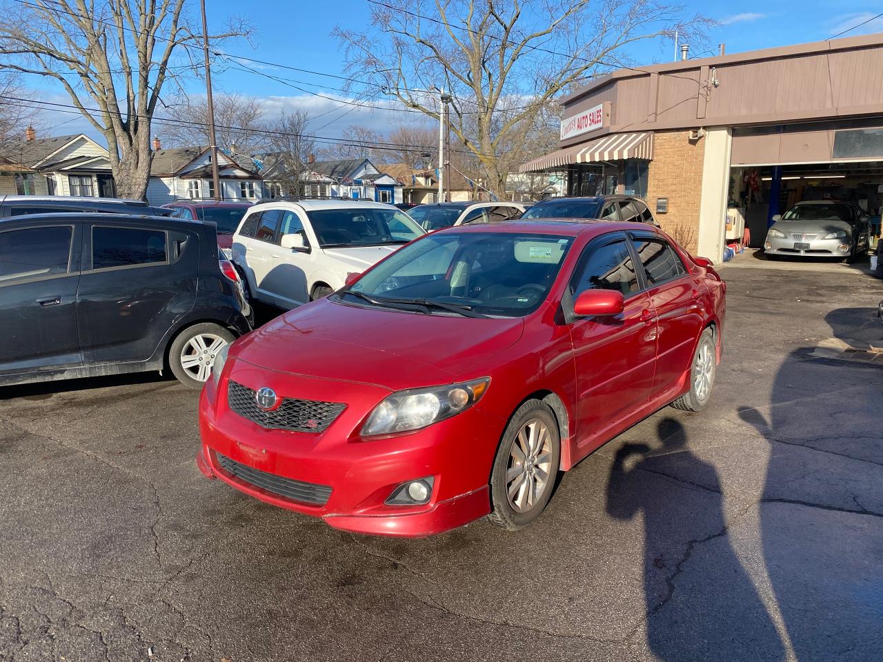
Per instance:
[[[270,125],[269,153],[262,158],[264,177],[271,184],[279,184],[285,196],[301,194],[303,176],[309,168],[306,163],[315,154],[315,143],[304,136],[308,122],[306,110],[283,110]]]

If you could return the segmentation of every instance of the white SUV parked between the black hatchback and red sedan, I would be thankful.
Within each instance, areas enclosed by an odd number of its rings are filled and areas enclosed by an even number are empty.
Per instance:
[[[392,205],[281,200],[255,205],[233,235],[232,260],[248,294],[294,308],[343,287],[426,231]]]

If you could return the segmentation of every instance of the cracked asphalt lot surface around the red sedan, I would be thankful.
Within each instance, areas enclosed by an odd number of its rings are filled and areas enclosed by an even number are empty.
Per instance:
[[[510,533],[363,538],[201,477],[194,393],[0,389],[0,660],[865,660],[883,650],[883,337],[857,270],[724,267],[713,401]]]

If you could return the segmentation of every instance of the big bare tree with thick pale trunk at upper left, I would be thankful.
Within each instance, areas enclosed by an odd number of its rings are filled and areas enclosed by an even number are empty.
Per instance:
[[[30,0],[0,19],[0,63],[55,79],[107,140],[117,192],[143,199],[150,176],[150,123],[163,86],[192,71],[172,56],[200,43],[185,0]],[[220,40],[245,34],[230,26]]]

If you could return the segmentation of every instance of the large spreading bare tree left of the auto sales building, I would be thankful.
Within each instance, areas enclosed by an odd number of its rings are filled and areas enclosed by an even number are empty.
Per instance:
[[[710,23],[682,20],[660,0],[370,1],[372,30],[335,30],[349,70],[436,119],[428,91],[445,87],[453,131],[499,195],[503,157],[520,151],[558,94],[624,64],[638,41],[675,29],[695,39]]]

